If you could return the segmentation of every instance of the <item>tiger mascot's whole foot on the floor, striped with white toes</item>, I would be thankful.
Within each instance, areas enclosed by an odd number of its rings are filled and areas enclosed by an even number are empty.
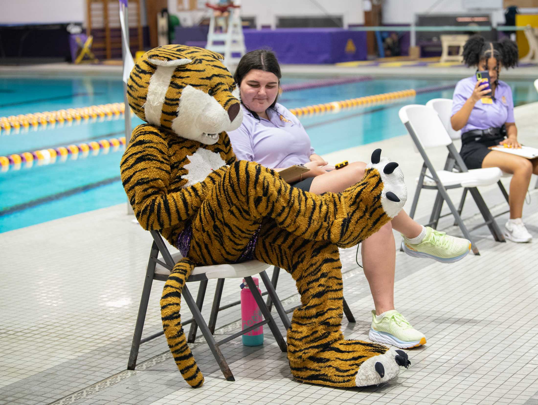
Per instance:
[[[335,342],[322,352],[289,364],[296,380],[332,387],[366,387],[392,380],[400,367],[411,364],[407,353],[386,346],[355,340]]]

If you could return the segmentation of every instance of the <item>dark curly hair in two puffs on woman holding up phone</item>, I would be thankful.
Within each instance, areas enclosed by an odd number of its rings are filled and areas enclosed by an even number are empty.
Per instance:
[[[514,68],[518,66],[518,45],[507,38],[500,42],[486,41],[480,35],[473,35],[463,46],[463,62],[467,66],[478,66],[480,61],[490,57],[497,59],[502,66]]]

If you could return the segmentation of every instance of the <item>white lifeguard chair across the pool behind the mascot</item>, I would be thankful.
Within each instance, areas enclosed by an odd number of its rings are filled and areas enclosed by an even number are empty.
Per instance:
[[[243,26],[241,17],[239,16],[239,5],[229,1],[227,3],[220,2],[219,4],[206,3],[209,9],[228,13],[228,26],[223,27],[222,32],[216,32],[219,26],[216,23],[217,18],[215,12],[211,13],[209,20],[209,32],[207,34],[206,48],[224,55],[224,64],[229,69],[235,68],[241,57],[246,53],[245,36],[243,35]]]

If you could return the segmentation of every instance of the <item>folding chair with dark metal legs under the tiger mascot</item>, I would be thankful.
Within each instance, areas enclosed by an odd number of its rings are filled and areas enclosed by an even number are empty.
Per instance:
[[[166,247],[166,243],[162,240],[162,237],[159,234],[159,232],[157,232],[156,230],[152,230],[150,232],[151,232],[151,236],[153,237],[153,244],[151,247],[150,259],[147,265],[146,278],[144,281],[144,288],[142,290],[142,296],[140,299],[140,307],[138,309],[138,317],[136,321],[136,326],[134,328],[133,341],[131,345],[131,353],[129,355],[129,363],[127,366],[128,370],[134,370],[134,367],[136,367],[140,344],[151,341],[152,339],[164,334],[164,331],[160,331],[151,336],[142,338],[142,331],[144,328],[144,321],[146,318],[146,310],[147,310],[147,305],[150,298],[151,285],[153,283],[153,280],[166,281],[175,263],[178,262],[182,258],[181,254],[179,253],[174,254],[174,255],[170,254],[170,252],[168,251],[168,248]],[[159,259],[159,252],[164,262],[162,262]],[[185,326],[189,323],[195,322],[196,325],[200,327],[200,330],[202,331],[202,334],[204,338],[206,338],[206,342],[209,345],[209,349],[213,353],[215,360],[217,360],[218,366],[221,368],[221,371],[224,374],[224,378],[228,381],[235,381],[235,379],[233,378],[233,374],[230,370],[230,367],[228,366],[228,363],[226,363],[226,359],[222,355],[222,352],[219,348],[219,346],[221,346],[222,344],[229,342],[232,339],[235,339],[245,334],[246,332],[254,330],[261,325],[267,324],[275,338],[275,341],[277,341],[277,344],[279,345],[280,350],[282,352],[287,351],[286,342],[284,341],[284,338],[280,334],[278,326],[275,323],[271,315],[271,312],[265,306],[263,298],[261,297],[261,294],[259,293],[258,288],[256,288],[256,285],[254,284],[254,281],[252,280],[252,276],[254,274],[259,273],[261,280],[263,281],[265,287],[267,288],[267,294],[275,302],[275,307],[277,308],[277,312],[279,313],[280,318],[282,322],[284,323],[284,327],[288,329],[291,326],[291,324],[289,322],[289,319],[286,313],[284,312],[284,308],[282,308],[282,305],[280,305],[280,300],[277,296],[277,293],[274,291],[273,285],[271,284],[271,281],[269,280],[267,273],[265,272],[265,269],[267,269],[267,267],[268,267],[267,264],[261,263],[258,261],[249,261],[249,262],[243,262],[243,263],[237,263],[237,264],[223,264],[223,265],[214,265],[214,266],[199,266],[199,267],[195,267],[193,272],[190,274],[190,277],[187,279],[187,283],[193,282],[193,281],[200,282],[200,287],[198,290],[196,301],[194,301],[193,296],[190,294],[190,291],[187,288],[187,285],[183,287],[182,298],[187,303],[190,309],[190,312],[193,314],[193,317],[192,319],[188,319],[185,322],[182,322],[182,324],[183,326]],[[225,278],[244,278],[252,292],[252,295],[254,296],[254,299],[256,300],[258,304],[258,307],[260,308],[261,313],[264,316],[264,321],[258,322],[249,328],[240,330],[237,333],[231,336],[228,336],[219,342],[216,342],[215,338],[213,337],[213,332],[209,330],[206,320],[204,320],[200,312],[202,309],[203,298],[206,292],[208,280],[215,279],[215,278],[218,279],[217,283],[221,282],[221,280],[224,280]],[[218,290],[218,286],[217,286],[217,290]],[[222,293],[222,288],[221,288],[221,293]]]

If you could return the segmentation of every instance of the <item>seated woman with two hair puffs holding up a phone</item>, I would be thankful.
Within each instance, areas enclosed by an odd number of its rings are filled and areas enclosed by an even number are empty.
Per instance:
[[[527,159],[490,149],[499,144],[521,148],[514,122],[512,90],[499,80],[501,67],[512,68],[518,64],[518,46],[510,40],[487,42],[474,35],[463,47],[463,61],[467,66],[476,66],[477,72],[459,81],[452,97],[452,128],[462,130],[459,154],[468,169],[498,167],[513,175],[505,237],[513,242],[530,242],[532,235],[521,216],[530,176],[538,174],[538,158]]]

